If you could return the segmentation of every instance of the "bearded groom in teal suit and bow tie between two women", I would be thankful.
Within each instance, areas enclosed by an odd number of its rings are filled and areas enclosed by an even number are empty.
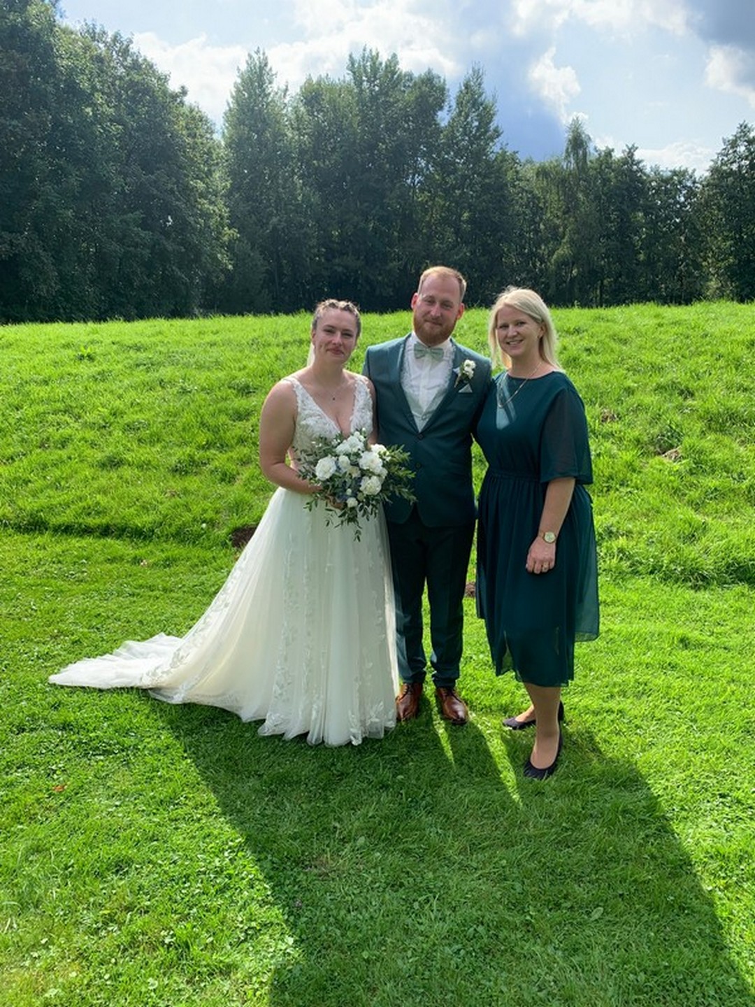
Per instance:
[[[465,724],[456,692],[463,598],[474,534],[471,429],[490,383],[490,362],[450,338],[464,313],[466,280],[433,266],[412,297],[413,330],[369,346],[364,374],[375,389],[384,444],[400,444],[415,472],[416,502],[386,507],[396,593],[399,720],[417,716],[427,658],[422,600],[427,585],[433,683],[441,713]]]

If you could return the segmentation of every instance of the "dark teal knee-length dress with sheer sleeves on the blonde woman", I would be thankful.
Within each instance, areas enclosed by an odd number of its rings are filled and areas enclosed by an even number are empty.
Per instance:
[[[574,678],[575,640],[598,635],[598,574],[592,462],[585,407],[562,372],[499,375],[475,436],[488,468],[479,497],[477,614],[485,620],[495,673],[564,686]],[[556,566],[527,573],[551,479],[575,478],[556,546]]]

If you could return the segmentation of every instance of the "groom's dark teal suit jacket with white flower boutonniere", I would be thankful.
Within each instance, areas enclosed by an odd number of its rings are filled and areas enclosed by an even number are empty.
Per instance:
[[[374,385],[378,430],[383,444],[400,444],[410,455],[420,520],[430,528],[465,525],[475,519],[472,487],[471,431],[490,386],[490,361],[451,340],[451,378],[438,408],[417,429],[401,373],[409,336],[368,346],[363,374]],[[467,382],[459,379],[465,361],[474,362]],[[402,524],[412,505],[396,498],[386,505],[386,518]]]

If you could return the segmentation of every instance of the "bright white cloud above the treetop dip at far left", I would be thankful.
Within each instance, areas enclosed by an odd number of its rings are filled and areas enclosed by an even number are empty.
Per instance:
[[[169,45],[152,31],[135,34],[134,44],[170,76],[172,88],[185,87],[189,101],[220,123],[239,68],[247,62],[243,45],[208,45],[206,35]]]

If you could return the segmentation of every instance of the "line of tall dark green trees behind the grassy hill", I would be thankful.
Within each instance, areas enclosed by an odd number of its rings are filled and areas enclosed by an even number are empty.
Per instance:
[[[755,297],[755,131],[709,170],[596,149],[575,120],[542,162],[509,149],[473,67],[364,49],[290,94],[240,70],[219,135],[120,34],[0,0],[0,321],[266,313],[323,296],[407,306],[434,262],[470,302]]]

